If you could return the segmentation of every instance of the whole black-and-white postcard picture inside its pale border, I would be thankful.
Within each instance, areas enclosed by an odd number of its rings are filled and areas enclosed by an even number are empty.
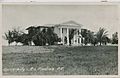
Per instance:
[[[2,74],[118,75],[118,5],[2,5]]]

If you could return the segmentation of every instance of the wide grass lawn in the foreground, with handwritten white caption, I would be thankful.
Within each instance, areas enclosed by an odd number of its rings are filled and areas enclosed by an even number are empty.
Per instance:
[[[40,48],[3,46],[3,75],[118,74],[118,46],[49,46],[54,50],[47,53]]]

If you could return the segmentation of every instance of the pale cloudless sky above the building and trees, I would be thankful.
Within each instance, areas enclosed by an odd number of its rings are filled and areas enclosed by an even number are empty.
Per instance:
[[[31,25],[59,24],[73,20],[97,32],[104,27],[109,36],[118,31],[116,5],[9,5],[2,6],[2,34],[19,27],[26,32]],[[7,41],[3,39],[3,45]]]

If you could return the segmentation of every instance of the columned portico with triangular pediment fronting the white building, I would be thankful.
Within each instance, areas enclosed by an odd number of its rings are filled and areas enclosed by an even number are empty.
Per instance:
[[[71,45],[81,45],[81,28],[83,25],[76,23],[75,21],[67,21],[61,24],[54,25],[54,32],[61,38],[63,45],[69,45],[69,34],[72,29],[75,30],[74,36],[71,39]]]

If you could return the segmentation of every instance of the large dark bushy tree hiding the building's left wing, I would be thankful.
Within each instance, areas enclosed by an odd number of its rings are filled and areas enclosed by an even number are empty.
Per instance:
[[[54,45],[55,42],[60,41],[57,34],[53,32],[52,27],[37,27],[33,32],[34,34],[30,37],[36,46],[43,46],[46,44]],[[32,31],[30,33],[32,33]]]

